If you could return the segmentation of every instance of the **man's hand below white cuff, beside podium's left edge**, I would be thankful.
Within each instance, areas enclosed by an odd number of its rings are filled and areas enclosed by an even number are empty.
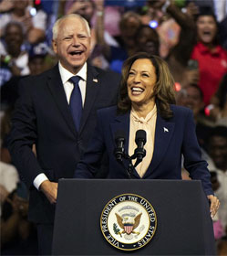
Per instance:
[[[57,186],[56,182],[45,180],[39,187],[51,204],[56,204],[57,202]]]

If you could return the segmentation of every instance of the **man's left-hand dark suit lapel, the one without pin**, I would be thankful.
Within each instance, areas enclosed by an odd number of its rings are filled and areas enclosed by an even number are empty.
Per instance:
[[[56,101],[57,108],[63,115],[69,129],[72,131],[72,133],[75,134],[75,136],[77,136],[77,131],[68,107],[67,96],[61,81],[58,65],[54,67],[52,73],[49,76],[47,84],[54,100]]]

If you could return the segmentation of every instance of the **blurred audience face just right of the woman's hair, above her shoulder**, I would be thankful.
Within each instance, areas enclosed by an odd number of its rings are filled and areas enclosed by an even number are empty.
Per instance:
[[[177,104],[190,108],[196,118],[204,107],[201,92],[194,86],[189,86],[181,89],[177,96]]]

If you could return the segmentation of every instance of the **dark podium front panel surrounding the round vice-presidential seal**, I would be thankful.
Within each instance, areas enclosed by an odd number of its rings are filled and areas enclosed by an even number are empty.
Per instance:
[[[113,197],[137,194],[157,215],[152,240],[121,251],[105,240],[102,210]],[[61,179],[58,185],[53,255],[215,255],[209,203],[200,181]]]

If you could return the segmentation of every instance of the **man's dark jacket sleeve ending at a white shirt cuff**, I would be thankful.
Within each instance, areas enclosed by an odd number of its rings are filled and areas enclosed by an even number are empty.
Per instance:
[[[35,177],[42,173],[42,169],[32,151],[36,144],[36,112],[33,107],[29,79],[19,84],[19,99],[15,104],[12,118],[12,129],[9,138],[9,151],[12,161],[18,169],[27,187],[33,185]],[[26,177],[24,179],[23,177]]]

